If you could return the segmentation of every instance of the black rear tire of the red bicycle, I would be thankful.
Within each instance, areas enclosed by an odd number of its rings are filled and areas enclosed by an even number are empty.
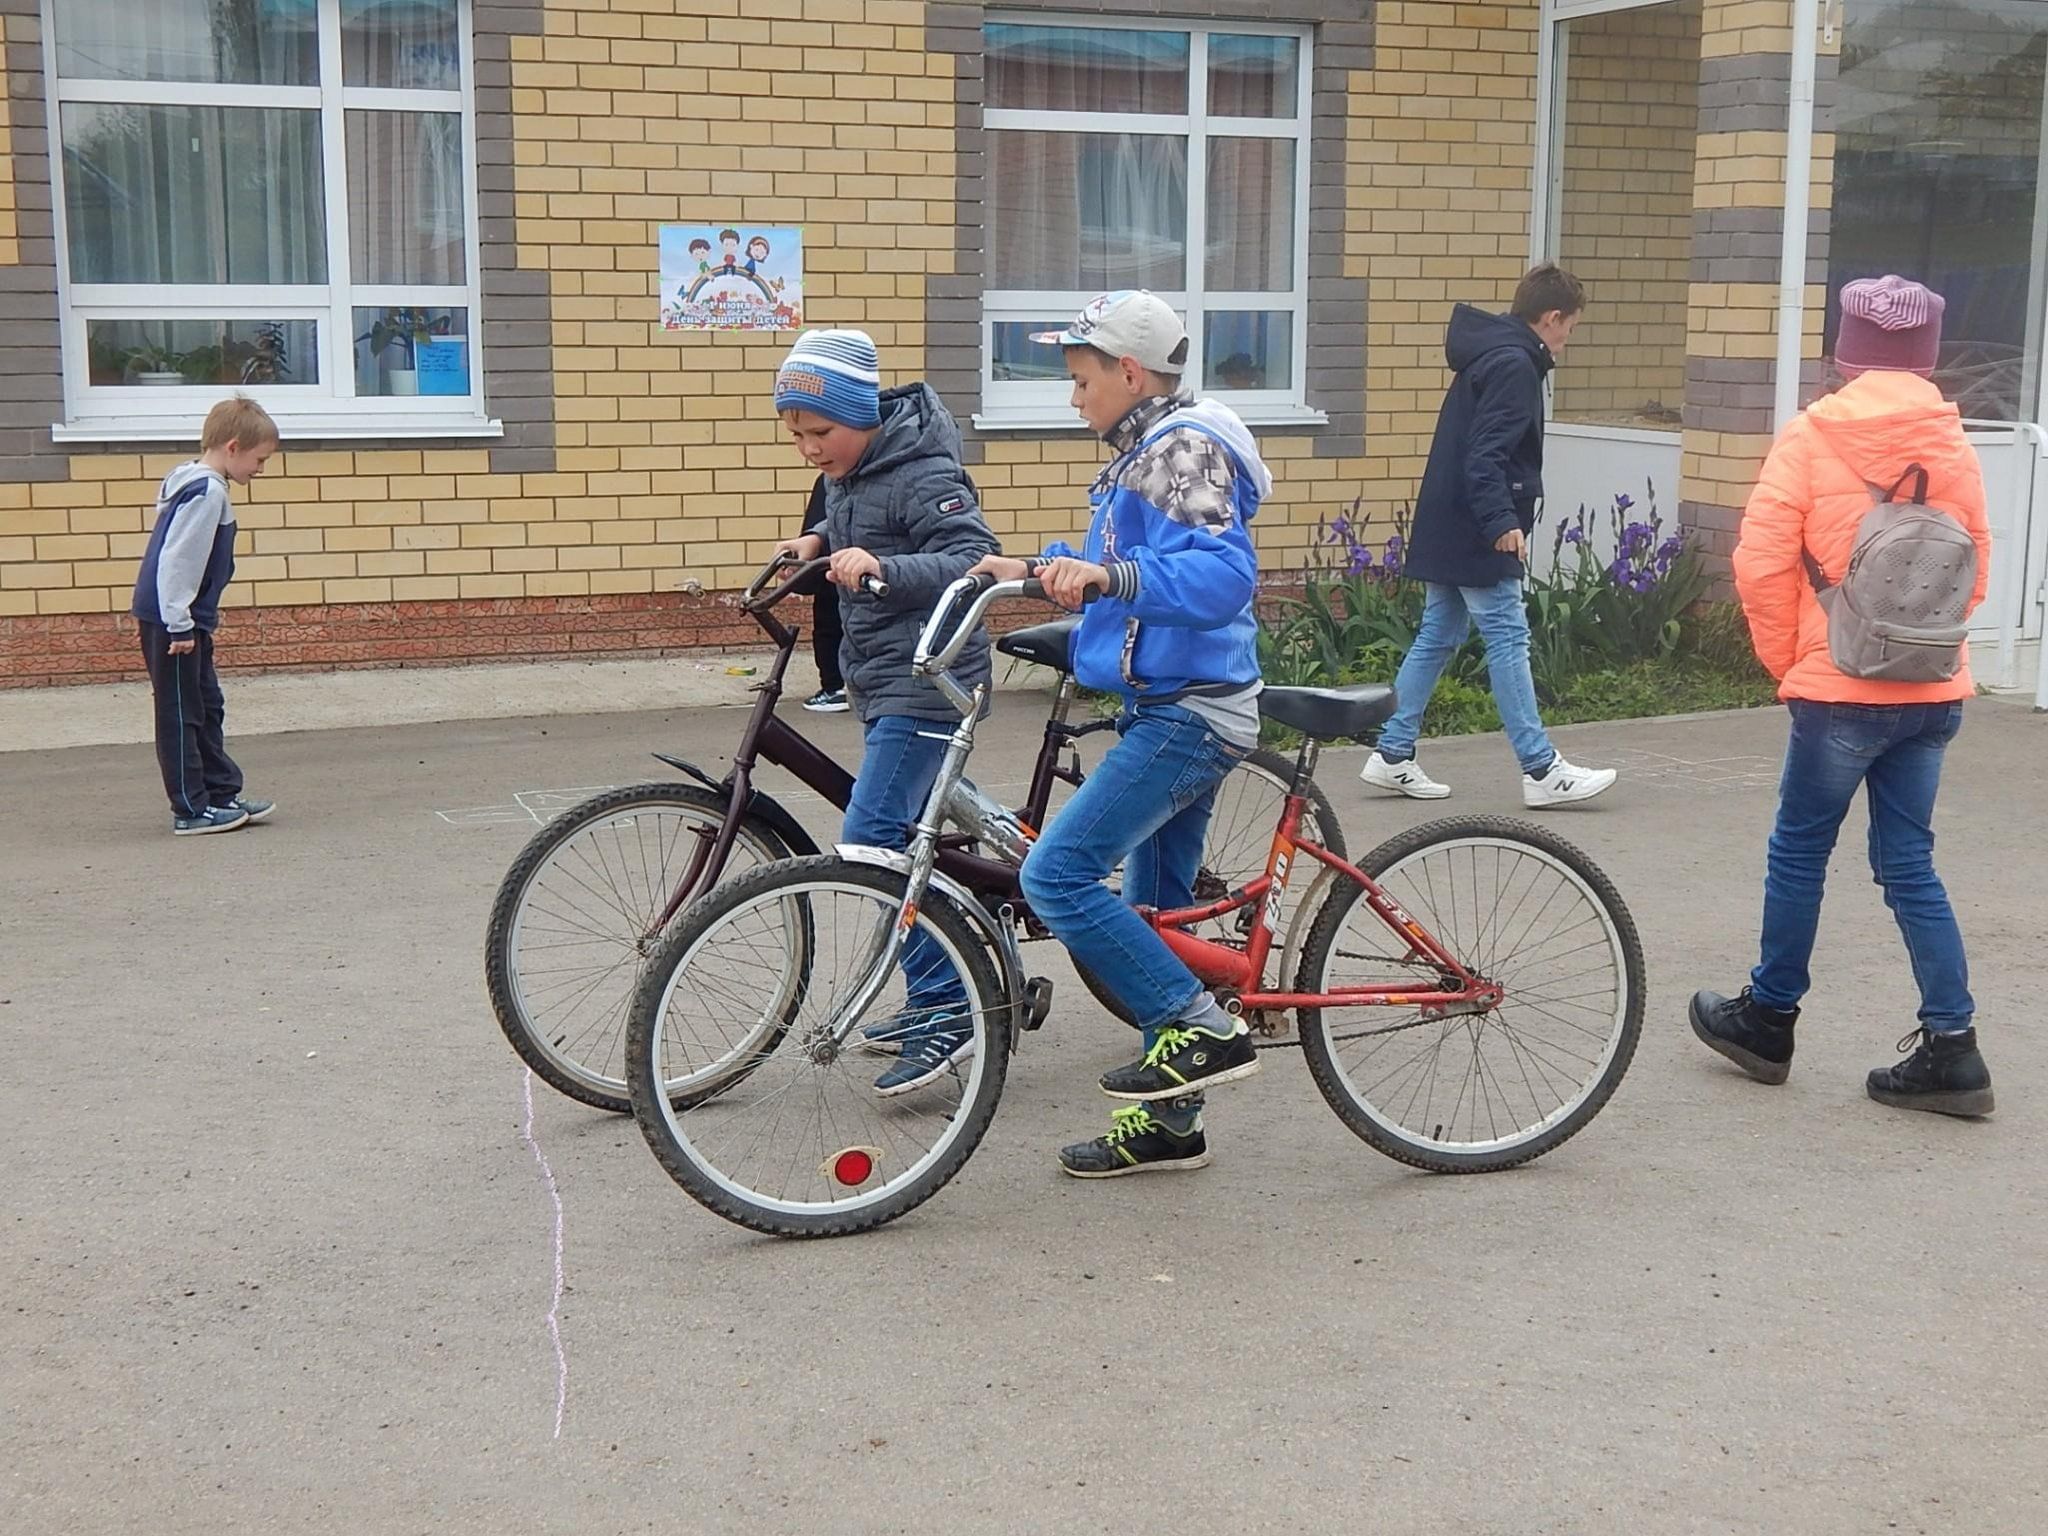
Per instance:
[[[1563,1145],[1571,1137],[1591,1122],[1614,1092],[1620,1087],[1622,1075],[1628,1071],[1628,1063],[1634,1059],[1636,1042],[1642,1034],[1642,1010],[1645,1010],[1645,971],[1642,971],[1642,942],[1636,934],[1634,920],[1628,913],[1628,905],[1622,901],[1620,893],[1608,874],[1587,858],[1575,844],[1559,838],[1554,831],[1544,827],[1534,827],[1526,821],[1513,817],[1495,815],[1466,815],[1448,817],[1442,821],[1430,821],[1407,831],[1389,838],[1384,844],[1366,854],[1360,864],[1374,881],[1378,881],[1389,870],[1415,860],[1432,848],[1446,844],[1458,846],[1495,846],[1495,848],[1516,848],[1534,850],[1536,856],[1550,864],[1552,870],[1569,872],[1563,881],[1565,887],[1577,885],[1583,895],[1591,899],[1597,907],[1599,918],[1606,926],[1608,946],[1612,950],[1616,977],[1624,987],[1618,1018],[1614,1020],[1614,1036],[1606,1042],[1604,1055],[1591,1075],[1591,1081],[1581,1085],[1579,1094],[1573,1096],[1569,1104],[1556,1106],[1556,1110],[1532,1128],[1526,1128],[1520,1137],[1495,1139],[1497,1145],[1481,1145],[1460,1151],[1458,1145],[1446,1145],[1434,1137],[1413,1135],[1395,1124],[1384,1112],[1378,1112],[1370,1100],[1362,1100],[1360,1094],[1350,1083],[1350,1073],[1337,1059],[1331,1030],[1327,1024],[1327,1012],[1319,1008],[1298,1010],[1300,1024],[1300,1044],[1303,1057],[1309,1063],[1309,1073],[1315,1077],[1315,1085],[1321,1090],[1323,1098],[1337,1112],[1337,1116],[1358,1135],[1366,1145],[1393,1157],[1395,1161],[1407,1163],[1411,1167],[1421,1167],[1432,1174],[1491,1174],[1507,1167],[1518,1167],[1546,1151]],[[1477,870],[1477,856],[1475,856]],[[1499,870],[1499,860],[1495,860],[1495,870]],[[1303,944],[1300,967],[1294,977],[1296,991],[1315,993],[1325,989],[1329,977],[1329,965],[1339,936],[1343,934],[1346,918],[1358,905],[1364,895],[1362,887],[1346,881],[1315,918],[1315,926],[1309,932],[1309,940]],[[1530,891],[1524,891],[1524,905]],[[1452,893],[1452,905],[1456,905],[1456,893]],[[1538,913],[1542,905],[1538,905]],[[1509,922],[1520,922],[1520,907]],[[1503,924],[1505,928],[1505,924]],[[1493,936],[1499,942],[1503,928],[1495,928]],[[1446,942],[1438,934],[1438,942]],[[1516,952],[1509,950],[1505,958],[1513,958]],[[1356,958],[1356,956],[1354,956]],[[1460,963],[1470,965],[1470,961],[1460,954]],[[1481,1016],[1499,1020],[1509,1008],[1516,1008],[1516,993],[1509,989],[1509,997],[1503,999],[1501,1008]],[[1542,1012],[1540,1006],[1532,1004],[1534,1012]],[[1374,1010],[1354,1010],[1354,1012],[1374,1012]],[[1497,1022],[1501,1034],[1509,1038],[1509,1051],[1518,1047],[1513,1042],[1513,1032]],[[1442,1036],[1440,1036],[1442,1038]],[[1475,1036],[1477,1038],[1477,1036]],[[1591,1049],[1591,1047],[1585,1047]],[[1526,1047],[1524,1047],[1526,1051]],[[1479,1047],[1475,1042],[1475,1061],[1479,1059]],[[1538,1063],[1544,1063],[1538,1057]],[[1538,1075],[1542,1075],[1542,1065]],[[1485,1083],[1485,1071],[1479,1069],[1479,1081]],[[1495,1073],[1497,1077],[1497,1073]],[[1481,1092],[1485,1092],[1481,1087]],[[1460,1085],[1460,1100],[1464,1087]]]

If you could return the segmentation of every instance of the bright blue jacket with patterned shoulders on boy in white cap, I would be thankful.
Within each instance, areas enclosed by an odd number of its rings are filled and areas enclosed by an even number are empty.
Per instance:
[[[1081,608],[1075,676],[1130,702],[1249,688],[1260,561],[1247,524],[1274,483],[1249,428],[1229,406],[1178,395],[1141,403],[1108,442],[1118,455],[1087,494],[1087,541],[1044,551],[1110,571],[1110,594]]]

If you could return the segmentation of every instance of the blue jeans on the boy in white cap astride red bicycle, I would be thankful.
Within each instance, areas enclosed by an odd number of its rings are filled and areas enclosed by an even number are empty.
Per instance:
[[[1130,1010],[1151,1047],[1206,987],[1133,911],[1194,905],[1217,784],[1245,758],[1180,705],[1116,723],[1110,748],[1024,858],[1024,899],[1077,965]],[[1124,895],[1104,881],[1124,864]]]

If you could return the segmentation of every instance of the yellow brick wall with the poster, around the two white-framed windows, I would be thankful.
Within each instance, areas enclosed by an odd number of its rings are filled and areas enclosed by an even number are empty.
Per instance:
[[[733,14],[733,12],[745,14]],[[924,369],[926,281],[954,250],[952,55],[922,0],[551,0],[512,39],[520,264],[551,281],[557,467],[485,449],[293,451],[240,498],[229,602],[549,598],[735,588],[811,475],[768,383],[786,336],[664,334],[655,229],[805,227],[809,324],[862,326],[891,381]],[[1350,78],[1346,274],[1368,285],[1368,457],[1264,434],[1268,567],[1354,498],[1413,498],[1458,299],[1503,305],[1528,254],[1536,6],[1391,0]],[[735,133],[743,125],[743,133]],[[1591,326],[1591,322],[1589,322]],[[1593,338],[1597,332],[1587,330]],[[80,455],[0,485],[0,616],[125,610],[162,471]],[[1085,436],[997,438],[975,479],[1012,549],[1085,522]]]

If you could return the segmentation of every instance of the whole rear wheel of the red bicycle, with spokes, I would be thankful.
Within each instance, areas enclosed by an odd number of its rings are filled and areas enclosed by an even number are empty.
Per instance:
[[[1614,1096],[1642,1032],[1642,944],[1608,877],[1563,838],[1507,817],[1452,817],[1374,848],[1362,868],[1470,975],[1493,1008],[1303,1008],[1323,1098],[1378,1151],[1438,1174],[1526,1163]],[[1436,987],[1346,881],[1303,946],[1296,989]]]

